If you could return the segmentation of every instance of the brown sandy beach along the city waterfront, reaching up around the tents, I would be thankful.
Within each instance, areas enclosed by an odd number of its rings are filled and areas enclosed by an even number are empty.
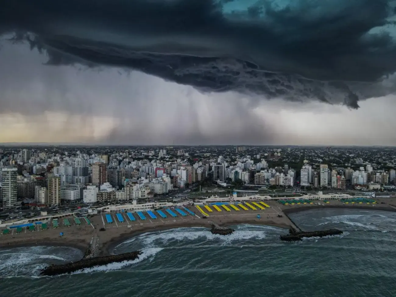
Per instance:
[[[128,240],[133,236],[137,236],[146,232],[156,232],[160,230],[181,228],[181,227],[207,227],[210,228],[209,221],[212,221],[220,226],[232,226],[238,224],[254,224],[254,225],[269,225],[280,228],[285,228],[285,234],[293,223],[288,219],[289,213],[298,211],[305,211],[309,209],[323,209],[323,208],[348,208],[348,209],[375,209],[384,211],[396,211],[396,199],[383,199],[385,204],[367,205],[354,204],[345,205],[342,202],[332,200],[329,204],[318,205],[314,204],[300,204],[284,206],[275,201],[268,202],[271,208],[265,210],[251,210],[248,211],[231,211],[231,212],[213,212],[210,213],[207,219],[202,218],[202,214],[195,207],[189,207],[191,211],[196,213],[195,216],[188,215],[187,217],[167,218],[156,220],[147,219],[141,221],[137,219],[135,222],[125,221],[124,223],[116,222],[112,224],[105,223],[104,215],[99,214],[91,218],[91,225],[72,225],[65,227],[60,224],[59,228],[49,228],[48,230],[39,230],[29,232],[24,230],[20,234],[16,234],[15,229],[8,235],[0,235],[0,248],[4,247],[21,247],[21,246],[70,246],[85,251],[93,238],[97,238],[99,252],[98,255],[108,255],[118,244]],[[395,200],[395,201],[394,201]],[[321,202],[323,204],[323,202]],[[260,214],[260,218],[257,215]],[[283,215],[278,217],[278,214]],[[100,228],[105,227],[105,231],[99,231]],[[62,237],[59,233],[63,232]],[[209,232],[209,229],[208,229]]]

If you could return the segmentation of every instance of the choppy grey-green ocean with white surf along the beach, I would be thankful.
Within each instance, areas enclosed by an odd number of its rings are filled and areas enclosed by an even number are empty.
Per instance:
[[[0,250],[1,297],[373,297],[396,295],[396,213],[315,209],[290,215],[304,230],[344,234],[288,243],[287,230],[238,225],[230,236],[206,228],[141,234],[116,247],[135,261],[39,277],[49,263],[82,257],[70,247]]]

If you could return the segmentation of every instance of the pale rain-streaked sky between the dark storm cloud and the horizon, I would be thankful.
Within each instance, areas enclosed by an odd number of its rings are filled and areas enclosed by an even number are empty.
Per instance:
[[[351,110],[200,93],[141,72],[46,61],[26,44],[2,44],[1,143],[396,145],[392,95]]]

